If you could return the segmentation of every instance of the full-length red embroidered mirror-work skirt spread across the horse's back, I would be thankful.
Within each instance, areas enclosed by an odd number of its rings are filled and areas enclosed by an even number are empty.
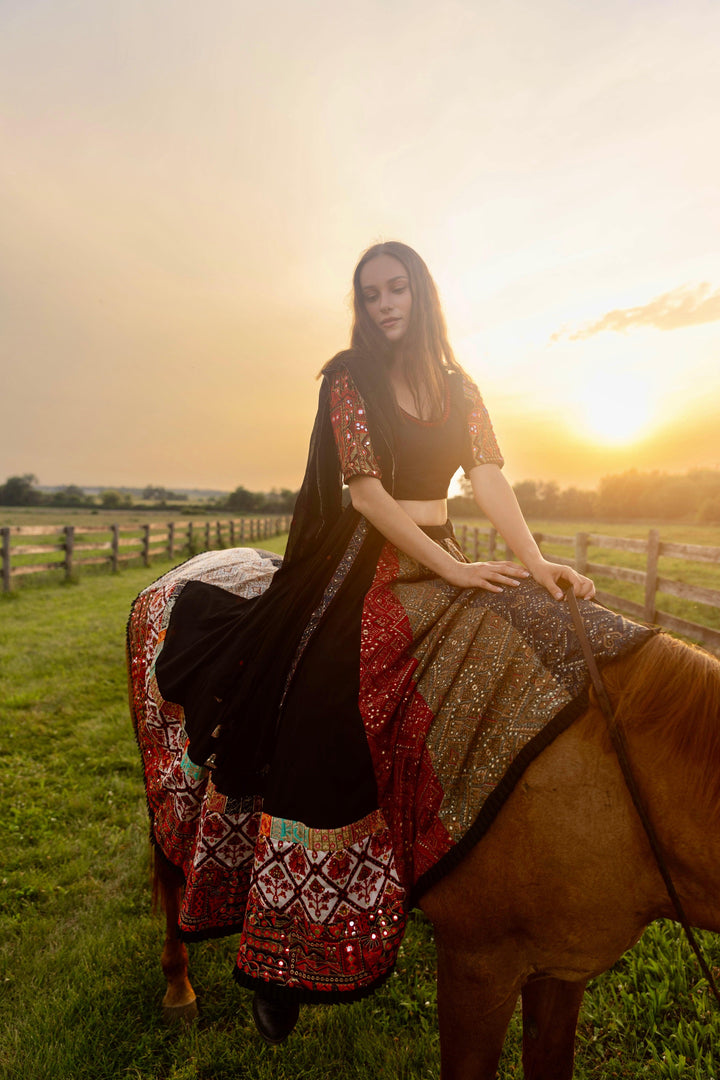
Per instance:
[[[237,605],[272,558],[198,556],[141,593],[128,625],[152,836],[186,877],[179,930],[239,932],[239,981],[302,1000],[353,1000],[386,977],[410,906],[586,704],[566,604],[531,580],[459,590],[377,534],[368,545],[371,531],[361,518],[295,650],[261,794],[221,794],[190,760],[155,662],[179,597]],[[449,526],[426,531],[463,557]],[[651,633],[581,609],[601,663]]]

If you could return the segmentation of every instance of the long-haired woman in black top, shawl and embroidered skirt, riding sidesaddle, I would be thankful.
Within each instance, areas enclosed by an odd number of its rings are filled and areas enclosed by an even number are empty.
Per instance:
[[[155,669],[189,758],[258,832],[236,976],[272,1042],[299,1000],[386,977],[411,903],[582,711],[561,582],[599,661],[649,633],[582,603],[592,581],[539,551],[417,253],[370,247],[353,289],[282,568],[254,600],[187,584]],[[521,565],[465,561],[447,522],[459,467]]]

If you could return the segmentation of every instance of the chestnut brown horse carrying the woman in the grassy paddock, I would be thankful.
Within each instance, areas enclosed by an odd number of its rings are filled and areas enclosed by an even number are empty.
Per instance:
[[[687,915],[720,930],[720,663],[660,636],[603,675]],[[163,1004],[193,1015],[182,883],[160,853],[155,883]],[[526,1080],[569,1080],[588,978],[675,914],[593,697],[421,907],[437,943],[443,1080],[492,1080],[519,995]]]

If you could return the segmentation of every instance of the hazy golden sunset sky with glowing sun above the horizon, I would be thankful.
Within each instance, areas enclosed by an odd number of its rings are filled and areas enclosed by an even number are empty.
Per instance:
[[[0,483],[297,487],[416,247],[512,482],[720,467],[718,0],[0,0]]]

